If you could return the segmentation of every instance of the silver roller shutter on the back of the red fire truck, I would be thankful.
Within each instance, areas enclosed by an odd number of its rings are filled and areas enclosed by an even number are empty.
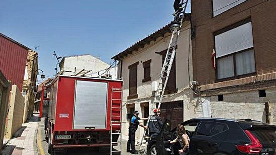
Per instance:
[[[76,81],[73,129],[105,129],[106,82]]]

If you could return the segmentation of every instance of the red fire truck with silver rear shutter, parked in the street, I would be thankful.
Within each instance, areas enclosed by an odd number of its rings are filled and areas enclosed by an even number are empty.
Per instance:
[[[121,135],[121,80],[58,75],[50,85],[48,152],[112,147]],[[120,149],[113,150],[120,154]],[[112,152],[111,152],[112,154]]]

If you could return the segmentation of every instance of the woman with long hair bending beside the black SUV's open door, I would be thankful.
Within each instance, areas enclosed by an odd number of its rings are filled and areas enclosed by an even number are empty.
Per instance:
[[[186,155],[188,154],[188,148],[190,143],[190,138],[186,133],[185,127],[181,124],[177,125],[177,137],[171,141],[170,143],[176,143],[179,142],[182,149],[178,150],[180,155]]]

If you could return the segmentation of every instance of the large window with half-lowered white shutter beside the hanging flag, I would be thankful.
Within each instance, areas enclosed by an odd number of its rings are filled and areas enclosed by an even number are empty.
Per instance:
[[[255,73],[252,23],[249,19],[215,35],[217,79]]]

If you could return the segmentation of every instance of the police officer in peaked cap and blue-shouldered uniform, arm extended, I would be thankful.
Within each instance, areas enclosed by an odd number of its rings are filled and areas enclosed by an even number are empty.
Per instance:
[[[135,132],[138,128],[138,125],[147,129],[142,123],[140,123],[138,120],[147,120],[147,118],[140,118],[138,117],[139,112],[137,110],[134,111],[133,117],[130,120],[130,127],[128,128],[128,141],[127,141],[127,149],[126,152],[130,152],[131,154],[136,154],[138,151],[135,150]],[[131,145],[131,150],[130,150]]]

